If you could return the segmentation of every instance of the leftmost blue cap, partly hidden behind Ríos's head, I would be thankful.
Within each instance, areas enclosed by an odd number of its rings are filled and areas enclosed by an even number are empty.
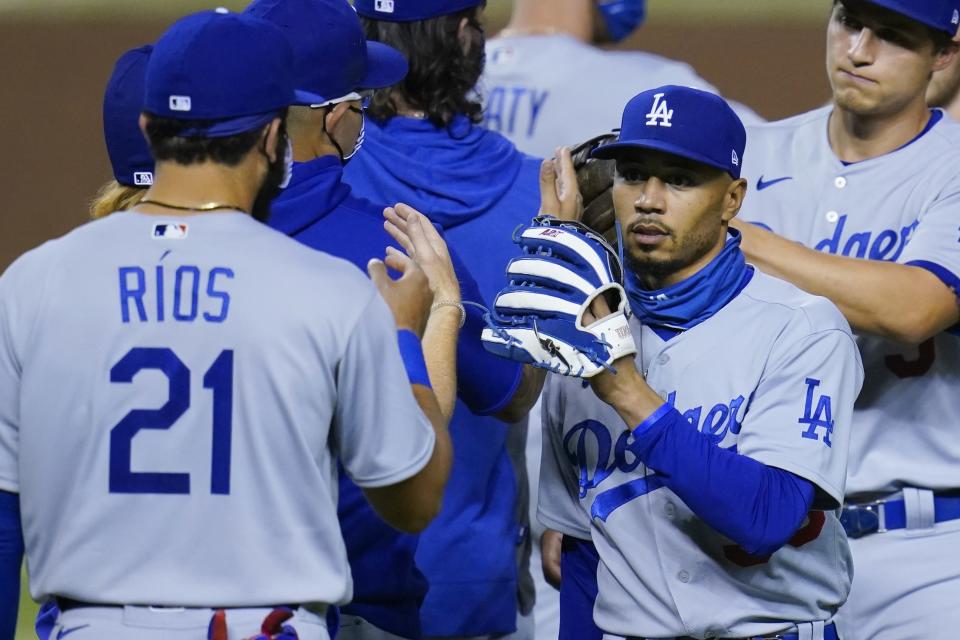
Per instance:
[[[103,138],[113,166],[113,177],[128,187],[153,184],[153,156],[143,132],[143,83],[151,45],[127,51],[113,68],[103,95]]]

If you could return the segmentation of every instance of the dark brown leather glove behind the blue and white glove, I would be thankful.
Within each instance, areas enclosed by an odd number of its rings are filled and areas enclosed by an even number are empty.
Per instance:
[[[602,235],[611,246],[617,246],[616,215],[613,211],[613,174],[615,160],[598,160],[590,153],[603,144],[617,141],[616,133],[605,133],[581,142],[570,149],[577,185],[583,197],[582,222]]]

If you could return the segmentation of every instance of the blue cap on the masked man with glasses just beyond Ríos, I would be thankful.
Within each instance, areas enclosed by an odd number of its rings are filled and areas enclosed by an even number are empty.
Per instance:
[[[347,0],[254,0],[244,13],[283,31],[293,47],[297,88],[322,97],[314,104],[389,87],[407,75],[403,54],[364,38]]]

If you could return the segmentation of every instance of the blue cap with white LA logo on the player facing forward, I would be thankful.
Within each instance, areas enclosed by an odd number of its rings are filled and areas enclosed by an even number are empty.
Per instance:
[[[591,155],[612,159],[628,149],[654,149],[739,178],[746,144],[747,131],[726,100],[707,91],[667,85],[631,98],[617,141],[597,147]]]

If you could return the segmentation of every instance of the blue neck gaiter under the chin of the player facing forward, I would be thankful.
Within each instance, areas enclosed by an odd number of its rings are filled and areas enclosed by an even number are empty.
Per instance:
[[[729,233],[731,237],[726,246],[710,264],[665,289],[644,289],[637,274],[627,269],[627,297],[640,322],[651,327],[686,331],[715,314],[740,293],[753,277],[753,268],[747,266],[740,251],[740,232],[730,229]]]

